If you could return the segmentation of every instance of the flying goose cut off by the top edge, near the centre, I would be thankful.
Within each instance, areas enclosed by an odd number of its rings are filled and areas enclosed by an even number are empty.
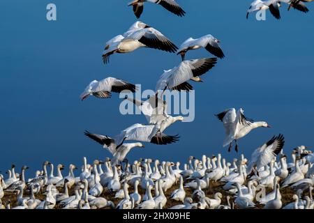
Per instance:
[[[174,13],[175,15],[178,15],[179,17],[182,17],[186,14],[186,12],[174,0],[135,0],[128,3],[128,6],[133,6],[133,12],[137,19],[139,19],[142,15],[144,10],[144,2],[146,1],[163,6],[163,8],[170,11],[171,13]]]

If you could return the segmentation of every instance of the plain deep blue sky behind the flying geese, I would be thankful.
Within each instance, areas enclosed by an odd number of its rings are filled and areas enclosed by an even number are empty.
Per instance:
[[[45,19],[47,3],[56,3],[57,21]],[[314,125],[314,4],[308,14],[281,8],[282,19],[267,12],[246,20],[251,1],[183,1],[185,17],[147,3],[141,21],[155,27],[179,46],[186,38],[211,33],[221,40],[225,59],[195,86],[195,121],[175,123],[168,134],[181,139],[169,146],[146,144],[134,149],[140,157],[186,161],[189,155],[235,152],[222,148],[223,125],[214,114],[243,107],[246,116],[267,121],[271,129],[254,130],[239,141],[240,152],[251,155],[274,134],[285,136],[285,150],[313,146]],[[119,114],[119,96],[110,100],[80,93],[93,79],[119,77],[154,89],[163,70],[173,68],[180,56],[154,49],[117,54],[104,65],[105,42],[135,22],[128,1],[17,1],[0,2],[0,170],[11,163],[40,169],[45,160],[82,164],[109,153],[84,137],[84,130],[115,135],[142,116]],[[188,59],[211,57],[206,50],[189,52]]]

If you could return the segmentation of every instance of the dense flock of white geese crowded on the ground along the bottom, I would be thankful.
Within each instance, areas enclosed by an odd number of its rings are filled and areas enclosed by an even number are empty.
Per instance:
[[[0,174],[0,209],[313,209],[314,154],[298,146],[287,162],[284,144],[279,134],[250,160],[244,155],[232,162],[220,154],[200,160],[191,156],[182,169],[180,162],[141,159],[130,164],[124,159],[116,164],[119,158],[114,157],[88,164],[84,157],[77,174],[74,164],[63,176],[63,164],[56,173],[46,161],[26,180],[28,167],[17,174],[12,165],[8,177]]]

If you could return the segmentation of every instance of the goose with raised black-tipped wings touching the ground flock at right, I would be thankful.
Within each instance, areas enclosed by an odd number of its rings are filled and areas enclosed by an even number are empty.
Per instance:
[[[285,137],[279,134],[278,137],[272,137],[267,143],[257,148],[251,155],[251,160],[248,164],[248,171],[253,167],[257,167],[257,171],[266,166],[276,158],[285,144]]]

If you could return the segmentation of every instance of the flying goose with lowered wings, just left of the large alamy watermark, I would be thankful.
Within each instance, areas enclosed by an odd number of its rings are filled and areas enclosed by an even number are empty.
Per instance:
[[[85,88],[81,94],[81,100],[85,100],[89,95],[94,95],[96,98],[111,98],[111,92],[121,93],[121,91],[128,90],[133,93],[136,90],[134,84],[130,84],[123,79],[114,77],[107,77],[101,81],[94,80]]]

